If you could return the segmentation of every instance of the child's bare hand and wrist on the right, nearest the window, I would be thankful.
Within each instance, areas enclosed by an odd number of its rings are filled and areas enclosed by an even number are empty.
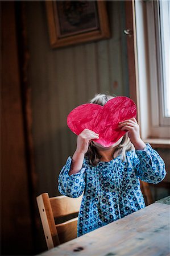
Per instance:
[[[131,143],[134,144],[136,150],[142,150],[146,147],[146,144],[140,138],[139,125],[134,117],[123,122],[119,122],[118,127],[121,128],[122,131],[128,131],[128,137],[130,138]]]

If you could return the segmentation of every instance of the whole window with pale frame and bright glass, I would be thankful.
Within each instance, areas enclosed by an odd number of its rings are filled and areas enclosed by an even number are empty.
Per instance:
[[[141,135],[170,144],[170,3],[135,1],[136,67]]]

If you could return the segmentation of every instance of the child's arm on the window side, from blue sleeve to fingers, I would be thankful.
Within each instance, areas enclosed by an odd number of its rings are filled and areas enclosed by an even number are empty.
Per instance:
[[[140,138],[139,125],[135,118],[119,123],[119,128],[128,131],[128,137],[136,149],[134,166],[136,176],[148,183],[159,183],[166,175],[165,164],[160,155]]]

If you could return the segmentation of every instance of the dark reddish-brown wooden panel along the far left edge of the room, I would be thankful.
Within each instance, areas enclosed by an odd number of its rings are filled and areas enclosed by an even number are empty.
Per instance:
[[[1,2],[1,255],[31,255],[32,221],[13,1]]]

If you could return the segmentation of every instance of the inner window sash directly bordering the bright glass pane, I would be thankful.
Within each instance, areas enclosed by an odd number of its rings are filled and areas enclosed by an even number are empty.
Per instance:
[[[150,61],[150,85],[151,85],[151,110],[156,109],[156,116],[152,116],[153,126],[170,127],[170,118],[164,117],[164,61],[162,55],[161,43],[161,24],[160,24],[160,1],[147,1],[147,38],[148,40],[148,56]],[[166,2],[165,2],[166,3]],[[162,3],[161,3],[162,4]],[[151,62],[152,61],[152,62]],[[154,65],[152,66],[152,63]],[[153,81],[154,74],[157,74],[156,81]],[[155,101],[155,98],[157,101]],[[154,112],[154,111],[152,111]]]

